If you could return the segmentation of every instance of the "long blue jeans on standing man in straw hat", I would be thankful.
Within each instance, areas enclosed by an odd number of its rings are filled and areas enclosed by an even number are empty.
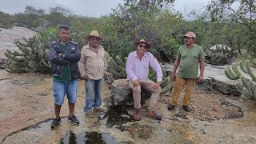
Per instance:
[[[102,105],[102,86],[103,86],[103,78],[94,80],[88,79],[85,82],[86,86],[86,106],[84,107],[84,111],[89,111],[93,107],[99,107]]]

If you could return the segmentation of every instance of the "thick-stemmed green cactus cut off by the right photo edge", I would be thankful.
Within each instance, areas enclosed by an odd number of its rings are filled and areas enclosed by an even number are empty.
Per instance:
[[[225,70],[226,77],[231,80],[237,80],[240,78],[241,82],[238,82],[236,84],[237,89],[242,93],[243,100],[252,99],[256,100],[256,86],[254,85],[254,82],[256,82],[256,77],[251,70],[251,63],[249,60],[246,60],[245,62],[240,61],[240,69],[250,75],[250,80],[246,79],[242,74],[239,72],[238,68],[234,63],[232,63],[232,66],[227,67]]]

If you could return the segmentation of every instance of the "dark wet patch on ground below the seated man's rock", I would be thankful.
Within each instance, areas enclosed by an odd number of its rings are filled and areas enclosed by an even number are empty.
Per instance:
[[[111,128],[114,125],[119,127],[126,122],[134,122],[134,117],[128,114],[126,106],[110,106],[109,110],[106,112],[106,125]]]

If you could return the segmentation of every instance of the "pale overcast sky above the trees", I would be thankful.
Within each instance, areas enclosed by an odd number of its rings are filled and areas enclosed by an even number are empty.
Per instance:
[[[189,14],[190,10],[202,10],[210,0],[176,0],[175,10],[182,14]],[[15,14],[25,11],[27,5],[37,9],[49,10],[50,7],[62,6],[72,10],[74,14],[100,17],[112,12],[111,8],[116,8],[123,0],[0,0],[0,11]]]

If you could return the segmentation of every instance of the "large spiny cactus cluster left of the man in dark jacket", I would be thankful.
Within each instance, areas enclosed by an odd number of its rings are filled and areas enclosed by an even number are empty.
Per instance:
[[[14,44],[18,46],[20,51],[6,50],[5,55],[10,59],[6,71],[13,73],[49,72],[48,48],[45,45],[47,42],[49,44],[50,38],[46,37],[41,43],[40,37],[40,35],[34,35],[32,38],[23,38],[25,43],[16,40]]]

